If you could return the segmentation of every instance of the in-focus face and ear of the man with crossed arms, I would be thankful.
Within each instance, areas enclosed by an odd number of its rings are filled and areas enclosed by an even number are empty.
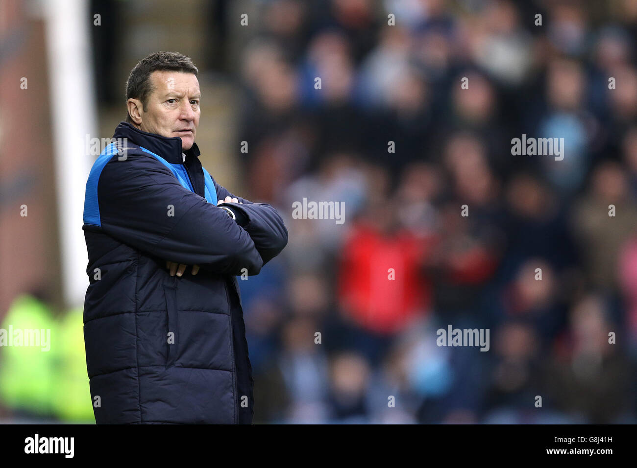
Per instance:
[[[199,127],[199,81],[192,73],[154,71],[144,109],[138,99],[127,102],[135,127],[144,132],[182,139],[182,150],[189,150]]]

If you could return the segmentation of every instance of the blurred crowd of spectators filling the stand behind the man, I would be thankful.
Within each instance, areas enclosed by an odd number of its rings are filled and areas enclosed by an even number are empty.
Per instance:
[[[240,281],[255,422],[636,422],[637,1],[258,13],[236,147],[290,241]]]

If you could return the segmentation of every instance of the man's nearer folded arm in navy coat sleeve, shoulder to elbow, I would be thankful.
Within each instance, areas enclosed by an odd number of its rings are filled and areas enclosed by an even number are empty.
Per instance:
[[[227,212],[182,187],[149,155],[104,166],[98,184],[101,227],[113,238],[163,260],[218,274],[258,274],[261,255]]]

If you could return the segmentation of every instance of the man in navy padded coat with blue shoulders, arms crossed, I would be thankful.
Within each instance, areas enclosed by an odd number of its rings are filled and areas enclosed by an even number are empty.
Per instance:
[[[238,281],[287,244],[281,216],[199,162],[197,67],[141,60],[86,185],[84,339],[97,423],[252,423]],[[188,268],[192,266],[192,268]]]

